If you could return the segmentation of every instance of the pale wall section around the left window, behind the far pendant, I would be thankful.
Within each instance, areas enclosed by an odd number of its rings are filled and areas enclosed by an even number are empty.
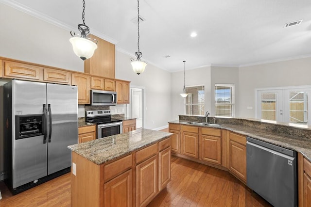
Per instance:
[[[211,108],[211,69],[209,66],[185,71],[185,85],[205,86],[205,110]],[[179,94],[183,92],[184,71],[172,73],[171,78],[171,120],[178,119],[178,115],[185,114],[184,98]]]

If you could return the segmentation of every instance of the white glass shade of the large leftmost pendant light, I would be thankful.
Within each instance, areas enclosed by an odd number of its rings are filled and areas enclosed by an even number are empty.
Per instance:
[[[74,54],[82,60],[92,57],[95,49],[97,49],[97,45],[93,41],[83,37],[71,37],[69,41],[72,44]]]

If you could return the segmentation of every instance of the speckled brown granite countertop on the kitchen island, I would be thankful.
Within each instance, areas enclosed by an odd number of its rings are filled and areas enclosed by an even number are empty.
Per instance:
[[[103,164],[130,154],[140,148],[171,136],[172,133],[139,128],[135,131],[112,135],[86,143],[73,144],[68,148],[82,157]]]

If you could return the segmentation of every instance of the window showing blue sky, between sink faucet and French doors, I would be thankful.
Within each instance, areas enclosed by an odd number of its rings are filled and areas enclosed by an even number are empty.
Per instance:
[[[215,115],[234,116],[234,85],[215,84]]]

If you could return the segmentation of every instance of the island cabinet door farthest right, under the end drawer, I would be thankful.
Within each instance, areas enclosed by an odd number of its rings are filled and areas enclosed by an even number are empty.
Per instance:
[[[171,147],[159,153],[159,191],[171,180]]]

